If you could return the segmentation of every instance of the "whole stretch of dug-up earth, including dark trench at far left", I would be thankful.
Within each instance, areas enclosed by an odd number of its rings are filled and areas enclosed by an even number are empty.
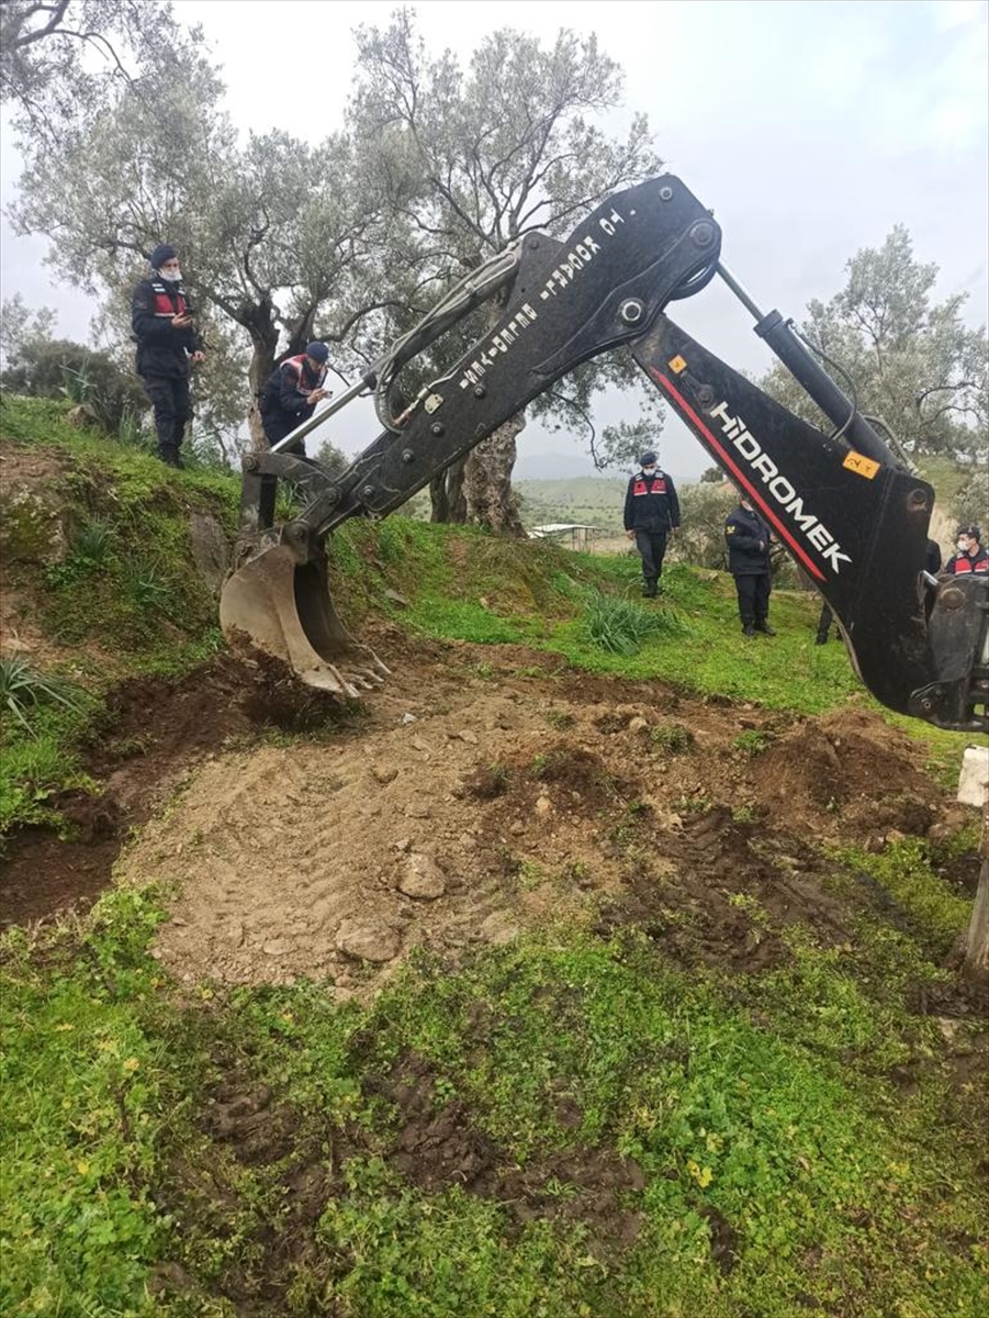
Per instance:
[[[230,656],[121,685],[90,749],[103,793],[63,803],[74,840],[9,844],[5,921],[91,900],[116,866],[175,884],[155,954],[184,981],[363,996],[414,946],[456,956],[548,916],[635,921],[685,963],[760,969],[785,948],[740,894],[770,929],[842,942],[820,844],[961,821],[870,713],[794,720],[519,647],[373,639],[392,677],[329,721]]]

